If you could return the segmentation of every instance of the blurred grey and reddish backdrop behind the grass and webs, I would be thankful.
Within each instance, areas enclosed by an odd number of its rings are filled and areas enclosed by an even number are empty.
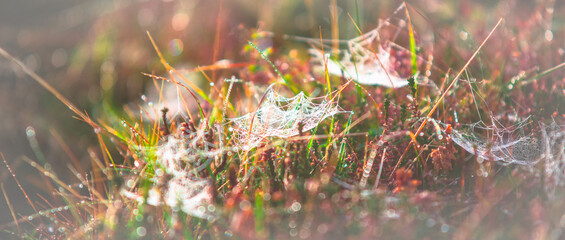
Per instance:
[[[379,19],[392,16],[402,3],[337,0],[338,8],[333,9],[331,2],[2,1],[0,47],[21,59],[93,119],[105,119],[109,113],[124,111],[124,106],[142,104],[141,97],[149,93],[153,85],[142,72],[163,74],[164,68],[146,32],[151,33],[171,65],[191,69],[221,59],[244,61],[242,49],[257,30],[274,32],[275,36],[312,38],[319,38],[321,31],[323,37],[329,39],[332,14],[337,14],[340,38],[356,37],[358,32],[352,21],[363,31],[371,30],[378,26]],[[517,52],[510,58],[503,56],[511,61],[515,57],[520,62],[517,64],[524,66],[545,69],[564,61],[563,1],[422,0],[408,3],[421,39],[419,44],[457,49],[449,62],[437,59],[440,68],[462,66],[477,46],[467,41],[465,34],[483,39],[500,17],[505,17],[506,28],[488,48],[512,44],[522,44],[521,49],[536,48],[536,51]],[[537,11],[545,8],[548,10]],[[539,12],[544,14],[533,14]],[[516,36],[520,35],[527,36],[524,39],[528,42],[517,41]],[[292,44],[295,43],[281,42],[276,37],[267,43],[281,52],[294,48]],[[555,54],[559,51],[560,54]],[[538,56],[543,55],[550,59],[538,61]],[[214,80],[229,78],[231,74],[229,70],[219,71]],[[507,73],[512,74],[515,72]],[[0,59],[0,152],[32,201],[44,202],[41,197],[50,200],[50,192],[44,187],[44,179],[24,163],[23,158],[50,167],[63,181],[73,183],[77,182],[69,171],[73,162],[88,171],[92,158],[88,149],[95,149],[91,152],[101,156],[92,128],[73,116],[64,104],[17,66]],[[22,216],[32,214],[14,178],[4,164],[0,165],[0,182],[15,212]],[[0,226],[10,221],[12,217],[2,196]]]

